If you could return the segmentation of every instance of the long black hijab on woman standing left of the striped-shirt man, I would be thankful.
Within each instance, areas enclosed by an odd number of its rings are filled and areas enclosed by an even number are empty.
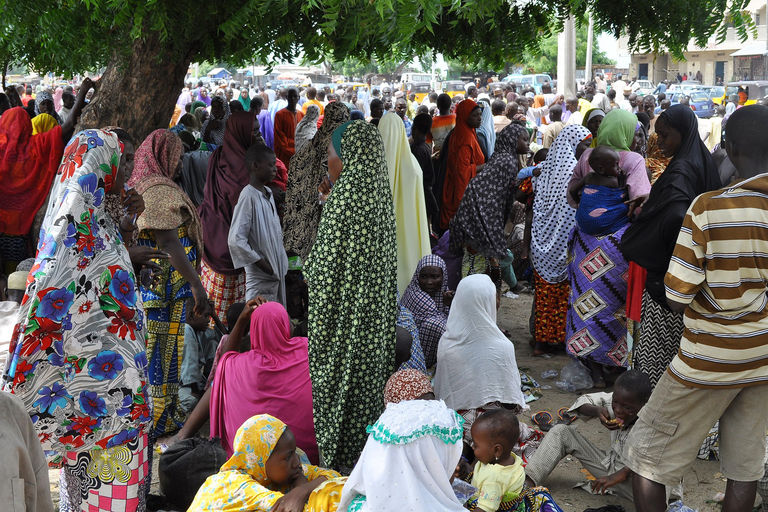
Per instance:
[[[675,105],[659,119],[680,133],[680,147],[651,187],[642,212],[624,233],[621,251],[627,260],[648,270],[648,293],[666,305],[664,274],[685,213],[696,196],[722,184],[712,155],[699,137],[696,114],[686,105]]]

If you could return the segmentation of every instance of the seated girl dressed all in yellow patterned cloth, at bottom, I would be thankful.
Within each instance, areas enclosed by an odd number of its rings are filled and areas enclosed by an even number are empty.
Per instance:
[[[345,479],[329,469],[301,465],[293,432],[279,419],[268,414],[248,419],[237,431],[234,448],[197,491],[188,512],[337,510]]]

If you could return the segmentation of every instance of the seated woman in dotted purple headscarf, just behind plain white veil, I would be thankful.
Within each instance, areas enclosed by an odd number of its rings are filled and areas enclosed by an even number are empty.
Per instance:
[[[448,291],[445,262],[428,254],[419,260],[400,304],[413,314],[427,368],[437,361],[437,345],[445,332],[453,292]]]

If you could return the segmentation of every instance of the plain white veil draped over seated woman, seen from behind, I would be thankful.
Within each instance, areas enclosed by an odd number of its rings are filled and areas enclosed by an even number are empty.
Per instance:
[[[496,286],[485,274],[459,282],[437,348],[435,394],[451,409],[492,402],[525,408],[515,346],[496,326]]]

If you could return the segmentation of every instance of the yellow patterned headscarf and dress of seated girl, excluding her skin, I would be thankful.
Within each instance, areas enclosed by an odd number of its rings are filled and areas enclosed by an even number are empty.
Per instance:
[[[268,414],[254,416],[243,423],[235,436],[232,457],[203,483],[188,512],[272,510],[283,492],[270,487],[265,466],[285,429],[285,423]],[[304,512],[336,512],[347,479],[336,471],[308,464],[303,465],[303,470],[310,482],[328,478],[312,491]]]

